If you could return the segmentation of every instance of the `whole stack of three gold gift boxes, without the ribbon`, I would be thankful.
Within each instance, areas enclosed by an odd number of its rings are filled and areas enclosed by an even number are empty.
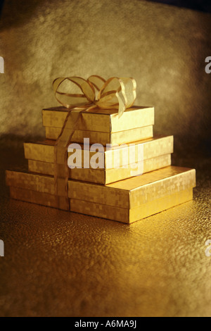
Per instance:
[[[28,172],[6,171],[13,199],[58,207],[54,146],[67,112],[64,107],[42,111],[46,140],[24,144]],[[97,108],[80,115],[71,141],[78,144],[82,163],[71,161],[70,211],[132,223],[193,198],[196,171],[171,165],[173,137],[153,137],[154,115],[153,107],[138,106],[121,118],[117,110]],[[76,149],[69,149],[68,160],[74,160]]]

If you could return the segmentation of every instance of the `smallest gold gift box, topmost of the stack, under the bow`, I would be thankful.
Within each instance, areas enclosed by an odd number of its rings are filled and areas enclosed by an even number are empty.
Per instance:
[[[81,111],[80,109],[74,111]],[[58,139],[68,109],[65,107],[46,108],[42,111],[46,139]],[[119,118],[117,109],[94,108],[80,116],[72,142],[83,143],[89,138],[90,144],[111,144],[112,146],[136,142],[153,137],[155,111],[153,107],[133,106]]]

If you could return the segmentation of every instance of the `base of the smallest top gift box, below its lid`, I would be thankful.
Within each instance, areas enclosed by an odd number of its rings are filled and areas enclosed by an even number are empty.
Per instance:
[[[58,139],[60,129],[58,127],[46,127],[46,139]],[[153,137],[153,126],[139,127],[132,130],[106,133],[95,131],[75,130],[72,136],[72,142],[84,142],[84,137],[89,138],[90,144],[111,144],[111,146],[128,144],[129,142],[136,142],[142,139]]]

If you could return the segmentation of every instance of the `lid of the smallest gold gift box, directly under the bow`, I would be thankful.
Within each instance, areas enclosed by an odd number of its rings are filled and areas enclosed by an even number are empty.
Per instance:
[[[58,111],[59,110],[59,111]],[[45,127],[63,127],[67,110],[64,107],[49,108],[42,111]],[[154,124],[155,111],[153,107],[132,107],[126,109],[121,118],[117,110],[94,109],[82,113],[77,130],[97,132],[119,132],[136,127],[146,127]],[[70,127],[72,129],[72,127]]]

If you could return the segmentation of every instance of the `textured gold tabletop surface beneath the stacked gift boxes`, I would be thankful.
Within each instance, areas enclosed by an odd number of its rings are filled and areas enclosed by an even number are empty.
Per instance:
[[[176,154],[193,201],[126,225],[8,199],[23,142],[0,153],[0,316],[211,316],[211,159]]]

